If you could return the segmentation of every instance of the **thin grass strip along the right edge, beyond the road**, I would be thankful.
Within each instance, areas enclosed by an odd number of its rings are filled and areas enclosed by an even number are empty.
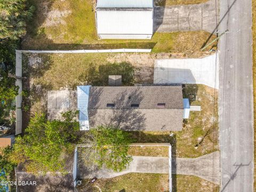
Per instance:
[[[253,49],[253,118],[254,118],[254,189],[256,189],[256,1],[252,0],[252,49]]]

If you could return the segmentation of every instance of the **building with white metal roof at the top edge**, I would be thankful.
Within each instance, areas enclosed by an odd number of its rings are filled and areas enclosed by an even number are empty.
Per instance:
[[[151,39],[153,0],[98,0],[96,20],[101,39]]]

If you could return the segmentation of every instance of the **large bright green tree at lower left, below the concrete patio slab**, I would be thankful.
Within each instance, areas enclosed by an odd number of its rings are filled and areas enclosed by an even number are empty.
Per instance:
[[[30,119],[23,137],[17,137],[13,145],[11,161],[26,163],[29,172],[65,172],[66,157],[74,150],[79,123],[76,113],[63,114],[63,121],[47,121],[45,115],[36,114]]]

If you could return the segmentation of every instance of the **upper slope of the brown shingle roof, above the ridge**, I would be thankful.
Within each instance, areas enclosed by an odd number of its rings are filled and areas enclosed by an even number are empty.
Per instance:
[[[165,109],[183,108],[181,86],[106,86],[91,87],[88,109],[115,108],[131,109],[139,104],[139,109],[157,109],[157,103],[165,103]]]

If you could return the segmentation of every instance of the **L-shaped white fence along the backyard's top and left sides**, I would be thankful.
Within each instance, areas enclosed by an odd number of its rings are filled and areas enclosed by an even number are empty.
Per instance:
[[[69,51],[33,51],[33,50],[16,50],[16,71],[17,77],[22,77],[22,53],[149,53],[151,49],[108,49],[108,50],[69,50]],[[15,85],[19,86],[19,95],[15,98],[16,104],[16,127],[15,134],[22,132],[22,80],[18,79]]]

